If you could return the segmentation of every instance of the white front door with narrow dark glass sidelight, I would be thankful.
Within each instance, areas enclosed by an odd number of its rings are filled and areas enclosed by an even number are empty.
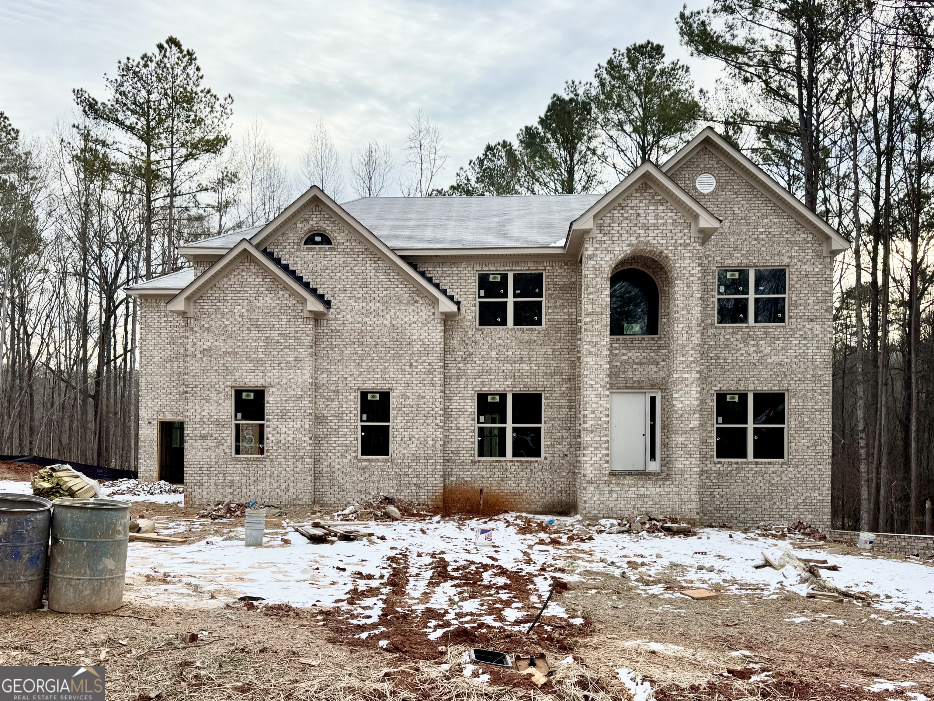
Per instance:
[[[610,393],[610,469],[657,470],[658,393]]]

